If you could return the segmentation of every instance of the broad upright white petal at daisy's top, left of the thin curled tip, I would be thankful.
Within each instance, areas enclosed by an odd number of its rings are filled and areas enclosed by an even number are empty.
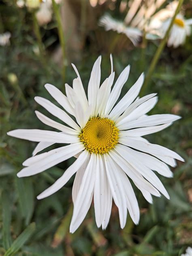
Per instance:
[[[90,81],[88,84],[88,101],[89,101],[89,105],[93,106],[93,111],[94,111],[94,108],[96,107],[97,94],[98,94],[99,85],[100,85],[100,76],[101,76],[100,63],[101,63],[101,56],[98,57],[98,59],[95,61],[93,65]]]

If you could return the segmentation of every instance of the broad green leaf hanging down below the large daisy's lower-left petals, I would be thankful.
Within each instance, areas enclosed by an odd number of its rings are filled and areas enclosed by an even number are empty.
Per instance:
[[[34,210],[34,190],[32,179],[30,177],[22,179],[15,177],[15,182],[21,207],[21,214],[22,217],[25,218],[26,225],[28,225]]]

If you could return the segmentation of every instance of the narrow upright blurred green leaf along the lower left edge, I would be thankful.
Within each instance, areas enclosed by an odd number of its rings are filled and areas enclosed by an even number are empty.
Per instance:
[[[6,192],[2,193],[2,221],[3,247],[7,250],[11,246],[11,203]]]

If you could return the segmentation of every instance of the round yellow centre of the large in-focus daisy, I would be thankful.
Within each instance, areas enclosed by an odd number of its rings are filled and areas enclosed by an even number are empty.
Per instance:
[[[107,153],[118,143],[118,129],[108,118],[92,117],[79,135],[90,153]]]

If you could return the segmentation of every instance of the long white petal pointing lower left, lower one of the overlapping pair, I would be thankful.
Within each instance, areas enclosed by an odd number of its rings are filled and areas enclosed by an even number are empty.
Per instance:
[[[73,155],[81,152],[84,149],[84,145],[81,142],[70,144],[64,147],[60,147],[58,149],[53,149],[49,152],[42,153],[45,156],[43,159],[34,162],[34,164],[23,168],[19,173],[17,173],[18,177],[26,177],[31,176],[37,173],[41,173],[48,168],[59,164],[71,158]],[[41,154],[40,154],[41,155]],[[34,156],[34,160],[39,158],[40,155]]]

